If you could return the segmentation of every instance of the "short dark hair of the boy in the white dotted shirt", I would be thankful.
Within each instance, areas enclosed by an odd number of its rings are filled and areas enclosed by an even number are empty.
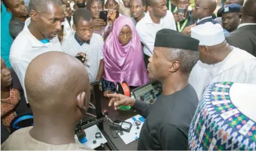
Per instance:
[[[80,19],[89,21],[89,20],[93,19],[92,13],[90,13],[90,11],[86,8],[78,8],[77,10],[74,11],[74,14],[73,14],[74,25],[77,26],[78,21]]]

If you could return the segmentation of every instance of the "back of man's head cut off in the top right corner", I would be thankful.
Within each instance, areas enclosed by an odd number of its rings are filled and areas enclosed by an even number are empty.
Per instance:
[[[247,0],[241,10],[242,21],[241,23],[256,23],[256,1]]]

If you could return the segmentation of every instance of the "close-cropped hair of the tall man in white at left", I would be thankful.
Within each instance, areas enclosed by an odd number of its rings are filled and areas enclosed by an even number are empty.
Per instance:
[[[47,13],[48,4],[56,4],[57,6],[62,6],[61,0],[30,0],[29,9],[35,10],[38,13]]]

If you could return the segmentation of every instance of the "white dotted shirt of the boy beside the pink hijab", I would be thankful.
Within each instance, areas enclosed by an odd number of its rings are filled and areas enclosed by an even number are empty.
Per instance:
[[[99,34],[93,34],[90,44],[84,43],[82,46],[72,35],[63,42],[62,50],[71,56],[76,56],[79,52],[86,53],[87,61],[84,62],[84,66],[89,74],[90,82],[94,82],[99,71],[100,60],[103,60],[103,44],[103,37]]]

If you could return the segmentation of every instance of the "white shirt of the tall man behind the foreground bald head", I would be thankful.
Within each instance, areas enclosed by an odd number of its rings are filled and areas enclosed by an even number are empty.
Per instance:
[[[10,64],[12,64],[12,67],[19,78],[20,84],[22,84],[25,98],[26,90],[24,79],[26,68],[29,63],[42,53],[61,51],[61,44],[57,36],[50,40],[50,42],[43,44],[30,33],[28,29],[29,24],[30,18],[26,19],[24,29],[13,41],[12,47],[10,48]],[[26,99],[26,103],[28,103],[28,99]]]

